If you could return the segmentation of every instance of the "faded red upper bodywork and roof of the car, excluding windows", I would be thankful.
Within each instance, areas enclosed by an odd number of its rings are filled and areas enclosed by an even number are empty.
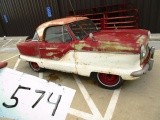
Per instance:
[[[40,25],[37,33],[40,41],[28,41],[18,43],[17,47],[22,55],[59,60],[70,50],[94,51],[94,52],[128,52],[140,53],[141,45],[148,44],[147,30],[101,30],[93,33],[94,38],[85,36],[83,40],[77,40],[68,24],[86,17],[68,17],[53,20]],[[44,30],[49,26],[67,25],[67,29],[73,40],[70,43],[47,43],[43,40]]]

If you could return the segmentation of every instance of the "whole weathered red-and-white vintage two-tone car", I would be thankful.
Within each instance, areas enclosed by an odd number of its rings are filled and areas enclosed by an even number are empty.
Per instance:
[[[99,30],[87,17],[67,17],[40,25],[33,37],[17,44],[20,58],[36,71],[53,69],[116,89],[152,69],[155,48],[147,30]]]

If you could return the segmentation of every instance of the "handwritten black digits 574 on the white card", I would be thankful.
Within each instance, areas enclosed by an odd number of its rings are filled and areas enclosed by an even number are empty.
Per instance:
[[[18,92],[18,90],[20,90],[20,89],[23,89],[23,90],[31,90],[31,88],[29,88],[29,87],[24,87],[24,86],[19,85],[18,88],[16,89],[16,91],[13,93],[13,95],[12,95],[11,98],[10,98],[10,99],[14,99],[14,100],[15,100],[15,104],[13,104],[13,105],[7,105],[5,102],[3,102],[2,105],[3,105],[4,107],[6,107],[6,108],[16,107],[17,104],[18,104],[18,98],[15,97],[15,94],[16,94],[16,93]],[[36,92],[36,93],[41,93],[42,95],[41,95],[41,96],[38,98],[38,100],[32,105],[32,108],[36,107],[36,105],[40,102],[40,100],[44,97],[44,95],[45,95],[45,93],[46,93],[46,91],[43,91],[43,90],[35,90],[35,92]],[[57,99],[57,102],[56,102],[56,103],[50,102],[50,98],[52,97],[52,95],[53,95],[53,92],[49,95],[49,97],[48,97],[47,100],[48,100],[48,102],[49,102],[50,104],[55,104],[54,110],[53,110],[53,112],[52,112],[52,116],[54,116],[54,115],[55,115],[55,112],[56,112],[56,110],[57,110],[57,108],[58,108],[58,105],[59,105],[59,103],[60,103],[60,101],[61,101],[62,95],[59,95],[59,96],[58,96],[58,99]]]

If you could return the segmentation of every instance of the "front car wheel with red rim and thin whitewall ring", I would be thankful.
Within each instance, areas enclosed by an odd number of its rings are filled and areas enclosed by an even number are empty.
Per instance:
[[[105,73],[97,73],[96,80],[101,87],[111,90],[121,87],[124,83],[120,76]]]

